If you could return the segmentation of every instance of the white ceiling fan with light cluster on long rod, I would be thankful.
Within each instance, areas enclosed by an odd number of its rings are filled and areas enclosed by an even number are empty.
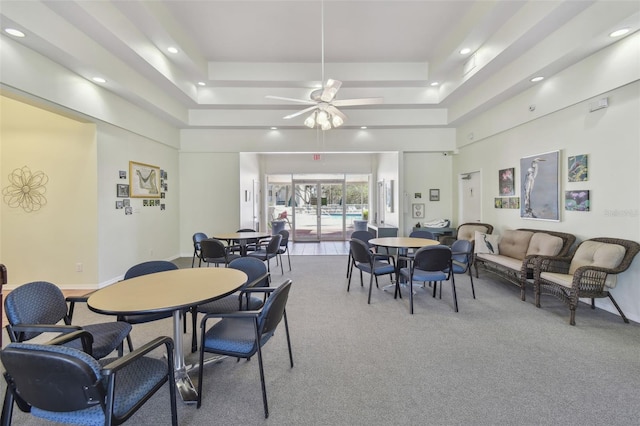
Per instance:
[[[324,82],[324,1],[321,6],[321,43],[322,43],[322,81]],[[338,109],[341,106],[375,105],[381,104],[383,98],[359,98],[359,99],[336,99],[338,89],[342,86],[339,80],[328,79],[323,83],[324,87],[311,92],[310,99],[284,98],[281,96],[267,95],[268,99],[296,102],[311,105],[293,114],[285,116],[285,119],[298,117],[311,111],[311,114],[304,120],[304,125],[309,128],[320,128],[329,130],[340,127],[344,124],[347,116]]]

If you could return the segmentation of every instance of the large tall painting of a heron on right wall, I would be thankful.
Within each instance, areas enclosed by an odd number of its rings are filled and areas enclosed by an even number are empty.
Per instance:
[[[560,151],[520,159],[520,217],[560,220]]]

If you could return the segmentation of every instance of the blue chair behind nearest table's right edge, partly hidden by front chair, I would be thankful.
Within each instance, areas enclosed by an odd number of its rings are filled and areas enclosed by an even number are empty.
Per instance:
[[[264,303],[264,297],[252,296],[244,290],[253,287],[268,287],[269,273],[267,266],[263,261],[253,257],[241,257],[229,263],[229,268],[237,269],[247,274],[247,281],[240,287],[239,291],[225,296],[221,299],[214,300],[204,305],[198,305],[191,308],[191,323],[193,335],[191,336],[191,352],[198,350],[198,338],[196,335],[196,318],[199,313],[228,313],[242,310],[258,310]]]

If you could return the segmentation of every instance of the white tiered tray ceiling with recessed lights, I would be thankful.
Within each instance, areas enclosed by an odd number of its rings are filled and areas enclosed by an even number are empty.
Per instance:
[[[346,128],[452,127],[527,89],[531,77],[549,78],[617,41],[612,30],[640,26],[635,0],[0,6],[2,28],[27,34],[17,42],[81,76],[104,77],[106,89],[180,128],[300,128],[304,116],[283,117],[305,105],[265,96],[309,99],[323,70],[325,80],[343,82],[337,99],[384,98],[341,108]],[[471,53],[461,55],[463,47]]]

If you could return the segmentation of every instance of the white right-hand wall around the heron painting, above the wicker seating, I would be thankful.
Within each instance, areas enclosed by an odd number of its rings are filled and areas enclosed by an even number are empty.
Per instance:
[[[600,54],[605,53],[607,52]],[[634,66],[638,70],[640,63]],[[595,67],[593,72],[598,70],[598,67]],[[588,70],[582,67],[567,70],[566,73],[578,71],[581,75],[575,78],[589,79],[589,75],[584,75]],[[636,75],[640,75],[640,72]],[[559,78],[566,80],[569,79],[569,75],[563,74]],[[556,83],[551,82],[554,85]],[[585,87],[584,92],[590,93],[590,89],[591,87]],[[639,95],[640,82],[636,80],[488,136],[460,149],[460,154],[455,157],[454,174],[477,170],[480,165],[483,171],[482,186],[485,198],[482,216],[485,222],[496,227],[495,233],[500,234],[505,229],[527,227],[569,232],[576,235],[578,241],[593,237],[616,237],[640,241]],[[571,96],[575,96],[575,93]],[[590,103],[602,97],[608,97],[609,107],[589,112]],[[518,102],[519,99],[512,99],[506,103],[507,105],[488,112],[479,120],[492,122],[494,115],[501,115],[509,105],[515,109]],[[495,119],[499,118],[495,117]],[[561,196],[565,190],[569,189],[589,190],[591,211],[564,211],[563,200],[561,200],[561,220],[550,222],[521,219],[517,209],[493,207],[492,200],[498,196],[499,169],[516,168],[516,195],[521,195],[522,183],[518,178],[520,158],[553,150],[561,152]],[[586,182],[569,183],[567,182],[567,157],[577,154],[589,155],[589,178]],[[640,259],[636,258],[630,269],[619,276],[618,286],[612,291],[622,310],[634,321],[640,321],[639,281]],[[616,312],[606,299],[597,300],[596,305]],[[581,309],[584,307],[581,306]]]

